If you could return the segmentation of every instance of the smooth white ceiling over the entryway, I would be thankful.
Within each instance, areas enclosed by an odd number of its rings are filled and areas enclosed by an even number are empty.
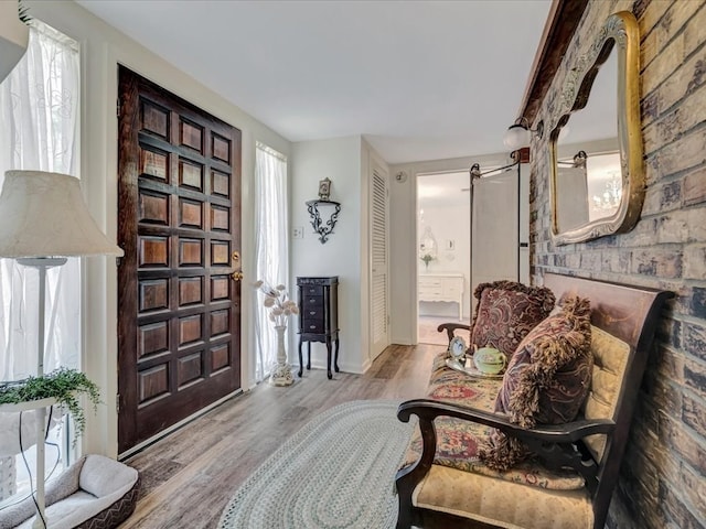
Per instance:
[[[77,0],[290,141],[504,152],[550,0]],[[169,89],[169,87],[165,87]]]

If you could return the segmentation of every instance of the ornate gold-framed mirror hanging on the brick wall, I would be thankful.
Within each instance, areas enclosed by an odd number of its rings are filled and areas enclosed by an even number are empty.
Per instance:
[[[638,22],[621,11],[608,17],[566,75],[548,125],[556,245],[630,231],[640,217],[644,171],[639,71]],[[606,110],[611,117],[600,119]],[[569,143],[571,136],[580,142]]]

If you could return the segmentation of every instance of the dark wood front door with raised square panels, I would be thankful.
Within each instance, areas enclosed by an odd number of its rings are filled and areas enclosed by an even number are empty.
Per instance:
[[[119,98],[125,453],[240,387],[240,131],[124,67]]]

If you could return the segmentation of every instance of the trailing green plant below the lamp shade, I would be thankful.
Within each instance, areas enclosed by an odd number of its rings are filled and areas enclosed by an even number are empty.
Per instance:
[[[19,404],[42,399],[55,399],[74,418],[76,432],[81,435],[86,428],[86,415],[78,401],[79,395],[86,395],[94,410],[100,403],[98,386],[76,369],[61,367],[41,377],[0,382],[0,404]]]

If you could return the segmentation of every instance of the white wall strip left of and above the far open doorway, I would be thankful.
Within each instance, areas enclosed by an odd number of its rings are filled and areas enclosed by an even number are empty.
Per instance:
[[[489,154],[430,162],[417,162],[389,166],[391,174],[391,339],[394,344],[417,342],[417,185],[416,175],[468,171],[473,163],[481,169],[504,165],[511,162],[507,154]],[[407,175],[405,182],[396,179],[397,173]],[[438,239],[437,239],[438,240]],[[424,263],[421,263],[424,267]]]

